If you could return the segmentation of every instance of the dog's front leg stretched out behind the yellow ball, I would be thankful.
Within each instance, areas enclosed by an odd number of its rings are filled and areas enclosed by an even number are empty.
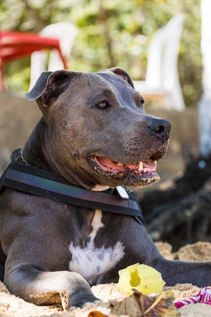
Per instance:
[[[121,237],[124,257],[115,267],[102,274],[96,284],[118,282],[118,270],[139,262],[157,269],[166,286],[177,283],[191,283],[198,287],[210,285],[211,262],[167,260],[160,254],[144,226],[136,224],[132,219],[127,224],[124,223],[124,228],[124,235]]]

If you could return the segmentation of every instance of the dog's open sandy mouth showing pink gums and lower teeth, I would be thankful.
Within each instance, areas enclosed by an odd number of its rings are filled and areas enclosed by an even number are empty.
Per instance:
[[[138,163],[124,164],[112,161],[106,157],[91,155],[89,157],[91,166],[101,175],[122,180],[124,185],[147,186],[160,180],[156,172],[157,162],[153,155]]]

